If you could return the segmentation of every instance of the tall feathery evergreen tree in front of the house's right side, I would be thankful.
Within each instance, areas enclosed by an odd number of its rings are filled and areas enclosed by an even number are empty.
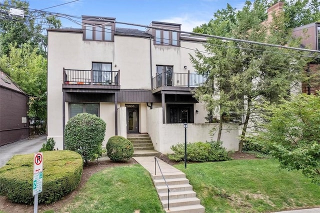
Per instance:
[[[266,0],[246,1],[237,12],[228,6],[215,13],[216,19],[205,27],[220,29],[219,35],[237,39],[299,47],[300,40],[292,38],[283,12],[273,14],[271,23],[261,23],[267,17],[267,6]],[[205,27],[203,30],[210,32]],[[239,142],[242,151],[248,124],[255,124],[262,98],[276,103],[279,96],[287,97],[292,82],[304,79],[304,66],[311,58],[296,50],[216,38],[208,39],[204,47],[208,54],[198,51],[190,56],[197,73],[207,76],[206,83],[195,89],[194,97],[220,117],[231,112],[245,115]],[[221,129],[220,121],[217,138]]]

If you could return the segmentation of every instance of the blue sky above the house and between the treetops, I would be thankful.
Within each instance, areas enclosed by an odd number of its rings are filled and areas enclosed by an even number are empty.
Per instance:
[[[43,9],[72,0],[28,0],[29,8]],[[181,23],[181,29],[191,31],[193,27],[207,23],[213,13],[226,7],[226,3],[241,9],[245,0],[78,0],[46,9],[47,11],[71,15],[96,15],[115,17],[117,21],[148,25],[152,20]],[[80,26],[60,18],[62,26]],[[129,25],[118,27],[136,28]]]

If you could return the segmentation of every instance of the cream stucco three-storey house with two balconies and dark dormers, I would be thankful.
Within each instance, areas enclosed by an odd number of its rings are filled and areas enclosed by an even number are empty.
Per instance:
[[[82,16],[82,29],[48,29],[47,133],[62,149],[68,119],[80,112],[106,122],[112,135],[147,132],[155,149],[210,140],[203,103],[191,90],[205,77],[194,72],[189,54],[204,50],[203,37],[182,34],[180,24],[152,21],[145,31],[117,28],[115,18]],[[162,27],[156,29],[153,27]],[[222,133],[227,150],[238,148],[238,124]],[[216,138],[213,137],[213,139]]]

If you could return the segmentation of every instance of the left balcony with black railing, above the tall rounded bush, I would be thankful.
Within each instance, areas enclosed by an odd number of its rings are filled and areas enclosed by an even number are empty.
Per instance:
[[[119,89],[119,76],[120,70],[102,71],[63,68],[63,87]]]

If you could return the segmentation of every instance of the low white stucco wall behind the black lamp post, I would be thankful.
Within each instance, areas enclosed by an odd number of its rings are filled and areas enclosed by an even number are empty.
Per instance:
[[[170,146],[184,142],[184,128],[182,123],[162,124],[161,108],[149,110],[149,123],[152,129],[149,130],[155,150],[161,153],[171,153]],[[216,134],[210,135],[217,123],[188,123],[186,140],[187,142],[216,140]],[[238,150],[238,124],[225,123],[223,125],[221,140],[227,151]]]

